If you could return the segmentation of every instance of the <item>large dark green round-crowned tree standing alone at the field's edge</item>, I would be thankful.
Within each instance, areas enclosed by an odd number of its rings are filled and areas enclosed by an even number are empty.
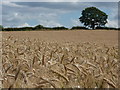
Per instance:
[[[95,27],[105,26],[108,15],[96,7],[88,7],[82,11],[82,16],[79,18],[80,22],[85,26],[95,29]]]

